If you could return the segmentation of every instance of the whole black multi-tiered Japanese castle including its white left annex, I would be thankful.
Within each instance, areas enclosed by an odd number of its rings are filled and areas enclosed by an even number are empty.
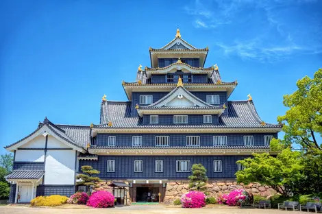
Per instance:
[[[5,147],[14,152],[10,202],[77,191],[76,176],[90,165],[99,178],[126,184],[131,202],[147,192],[166,195],[169,182],[187,180],[195,163],[210,180],[235,178],[236,161],[270,152],[282,126],[260,119],[251,95],[229,101],[237,81],[204,67],[208,47],[175,38],[149,48],[151,67],[140,65],[134,82],[122,82],[127,101],[101,100],[99,124],[72,126],[45,118],[34,132]],[[121,81],[120,81],[121,82]],[[160,193],[160,195],[159,195]]]

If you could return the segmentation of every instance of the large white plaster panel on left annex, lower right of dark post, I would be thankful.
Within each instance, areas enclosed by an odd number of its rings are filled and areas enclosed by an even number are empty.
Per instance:
[[[47,150],[45,185],[73,185],[75,150]]]

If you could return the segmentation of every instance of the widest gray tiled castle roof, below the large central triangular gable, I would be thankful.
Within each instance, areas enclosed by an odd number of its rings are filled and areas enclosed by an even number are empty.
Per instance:
[[[102,102],[101,124],[94,128],[282,128],[282,125],[265,123],[256,112],[252,101],[229,101],[227,116],[219,118],[218,125],[143,126],[141,117],[131,117],[131,102]],[[108,122],[112,121],[112,127]]]

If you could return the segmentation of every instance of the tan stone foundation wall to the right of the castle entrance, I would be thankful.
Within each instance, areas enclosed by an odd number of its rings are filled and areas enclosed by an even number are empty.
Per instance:
[[[258,183],[249,185],[237,184],[236,180],[208,180],[206,187],[208,197],[214,198],[221,193],[230,193],[234,189],[245,189],[253,193],[253,195],[261,195],[263,197],[275,193],[275,190],[267,186],[262,186]],[[169,180],[166,184],[164,204],[173,204],[174,200],[179,199],[187,191],[189,191],[188,180]]]

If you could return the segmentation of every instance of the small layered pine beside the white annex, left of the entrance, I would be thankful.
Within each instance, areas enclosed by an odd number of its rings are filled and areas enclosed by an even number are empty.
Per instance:
[[[99,187],[97,182],[100,180],[98,177],[94,177],[95,175],[99,174],[98,170],[93,169],[91,166],[82,166],[82,172],[83,174],[76,176],[77,179],[81,180],[78,181],[76,185],[84,185],[87,187],[88,191],[90,191],[92,187]]]

